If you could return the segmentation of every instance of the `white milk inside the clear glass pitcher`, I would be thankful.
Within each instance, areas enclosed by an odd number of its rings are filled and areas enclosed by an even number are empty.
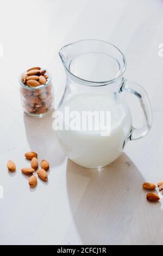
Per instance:
[[[106,95],[79,94],[64,102],[64,107],[67,106],[70,112],[111,111],[110,136],[102,137],[99,130],[57,132],[69,159],[83,167],[97,168],[108,165],[121,155],[131,127],[131,115],[127,105],[117,104]]]

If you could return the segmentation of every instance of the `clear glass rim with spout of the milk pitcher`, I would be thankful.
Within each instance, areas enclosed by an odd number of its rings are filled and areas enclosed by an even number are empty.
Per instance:
[[[122,56],[122,60],[123,60],[123,63],[124,63],[124,67],[123,69],[121,70],[120,74],[118,74],[115,78],[112,78],[110,80],[106,80],[106,81],[90,81],[90,80],[85,80],[81,77],[78,77],[76,75],[74,75],[70,69],[67,67],[67,65],[65,64],[65,61],[64,61],[64,57],[62,56],[62,53],[61,51],[66,48],[67,46],[70,46],[70,45],[73,45],[73,44],[76,44],[78,42],[82,42],[82,41],[98,41],[98,42],[105,42],[106,44],[110,45],[110,46],[113,46],[114,48],[116,48],[116,50],[121,54]],[[124,71],[126,70],[126,67],[127,67],[127,62],[126,62],[126,57],[124,56],[123,52],[117,47],[115,46],[114,44],[111,44],[110,42],[107,42],[107,41],[104,41],[104,40],[99,40],[99,39],[83,39],[83,40],[78,40],[78,41],[74,41],[72,42],[71,44],[67,44],[65,46],[63,46],[60,51],[59,51],[59,56],[62,60],[62,63],[64,64],[64,67],[65,69],[67,70],[67,72],[74,78],[76,78],[77,80],[79,81],[83,81],[83,82],[86,82],[88,84],[95,84],[94,86],[105,86],[107,84],[110,84],[110,83],[113,83],[115,82],[116,80],[118,80],[118,78],[120,78],[123,74],[124,74]],[[86,84],[86,86],[89,86],[88,84]],[[93,86],[93,85],[91,85]]]

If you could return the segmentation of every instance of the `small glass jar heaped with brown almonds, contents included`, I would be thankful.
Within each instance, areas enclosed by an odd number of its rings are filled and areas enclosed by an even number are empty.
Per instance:
[[[52,77],[45,69],[29,68],[20,76],[21,102],[24,112],[43,117],[53,109]]]

